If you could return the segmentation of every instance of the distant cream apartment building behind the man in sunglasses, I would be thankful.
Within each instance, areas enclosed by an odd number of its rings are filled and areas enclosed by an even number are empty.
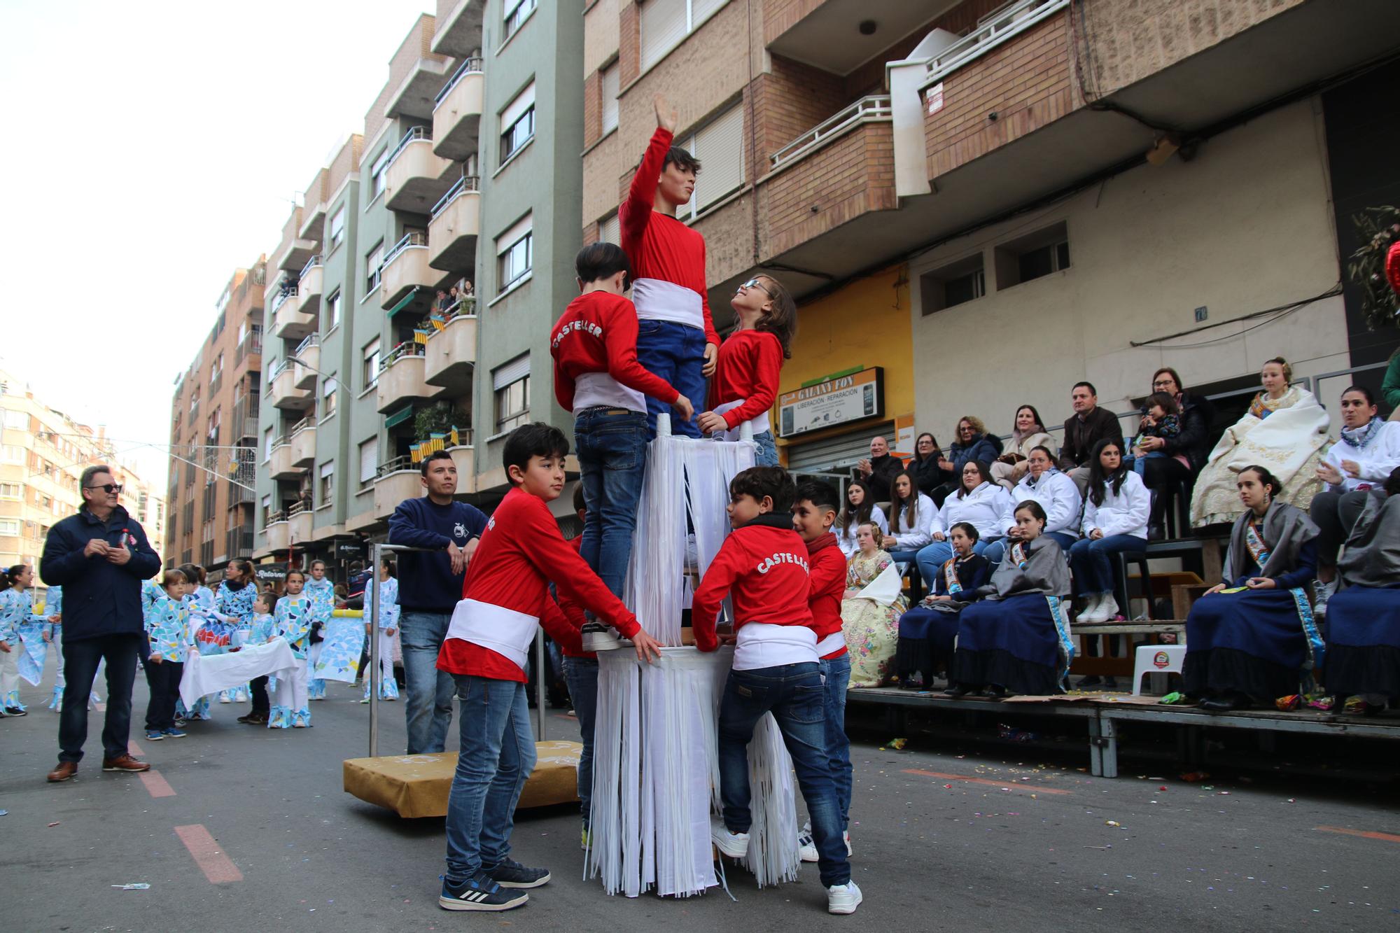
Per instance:
[[[160,548],[167,520],[161,490],[118,459],[104,427],[74,420],[36,398],[18,374],[0,371],[0,566],[41,569],[49,528],[83,506],[78,481],[95,464],[112,468],[122,504]],[[35,586],[45,590],[41,580]]]

